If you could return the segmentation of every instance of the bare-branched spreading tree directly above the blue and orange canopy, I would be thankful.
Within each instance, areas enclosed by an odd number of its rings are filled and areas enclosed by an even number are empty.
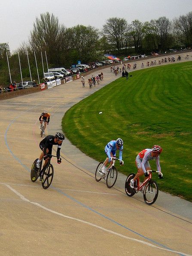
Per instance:
[[[126,45],[128,23],[124,18],[109,18],[103,26],[103,34],[113,49],[122,50]]]

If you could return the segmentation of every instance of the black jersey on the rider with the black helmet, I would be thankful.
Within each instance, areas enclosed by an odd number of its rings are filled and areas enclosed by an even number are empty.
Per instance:
[[[55,143],[54,141],[55,136],[53,135],[47,135],[43,140],[40,142],[40,149],[43,151],[43,154],[46,155],[46,149],[49,149],[49,154],[52,154],[52,147],[53,145],[58,145],[57,147],[57,158],[60,158],[60,149],[61,149],[61,144],[58,144],[57,142]]]

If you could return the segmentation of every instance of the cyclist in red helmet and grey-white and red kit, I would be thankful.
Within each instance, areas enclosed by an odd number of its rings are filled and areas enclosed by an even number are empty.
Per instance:
[[[134,188],[134,182],[135,180],[142,176],[143,174],[145,177],[149,176],[148,170],[151,170],[151,167],[149,165],[149,160],[155,159],[156,165],[157,165],[157,171],[161,172],[161,167],[159,164],[159,155],[162,152],[162,148],[158,145],[154,145],[152,149],[143,149],[136,157],[135,163],[138,169],[137,174],[130,182],[130,187]],[[162,179],[162,175],[158,174],[159,179]]]

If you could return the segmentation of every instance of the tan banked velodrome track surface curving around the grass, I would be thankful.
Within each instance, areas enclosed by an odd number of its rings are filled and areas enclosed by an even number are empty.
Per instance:
[[[73,81],[0,101],[0,255],[192,254],[190,202],[160,193],[148,206],[139,193],[125,195],[122,175],[107,189],[94,180],[97,162],[67,139],[61,165],[52,159],[52,186],[44,190],[39,180],[30,181],[31,165],[40,155],[40,113],[52,114],[49,134],[61,131],[70,106],[118,78],[110,68],[102,71],[104,81],[92,90]]]

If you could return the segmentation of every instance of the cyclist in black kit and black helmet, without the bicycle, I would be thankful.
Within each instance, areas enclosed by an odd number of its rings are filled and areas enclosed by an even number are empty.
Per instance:
[[[47,154],[52,154],[52,147],[53,145],[58,145],[57,148],[57,162],[58,164],[61,164],[61,158],[60,158],[60,149],[62,142],[64,141],[65,137],[62,133],[57,132],[54,135],[47,135],[43,140],[40,142],[40,149],[43,151],[40,155],[40,158],[37,160],[36,166],[37,168],[40,168],[40,162],[42,158],[45,160],[45,164],[47,163]]]

